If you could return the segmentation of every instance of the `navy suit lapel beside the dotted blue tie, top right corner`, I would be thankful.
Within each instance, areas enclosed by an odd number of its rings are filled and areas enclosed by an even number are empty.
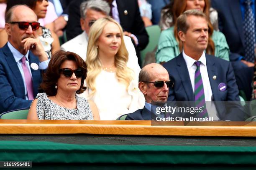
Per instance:
[[[229,7],[233,16],[233,21],[236,25],[236,29],[239,32],[239,36],[242,40],[243,46],[245,46],[244,35],[243,35],[243,18],[242,12],[239,4],[239,0],[229,0]]]

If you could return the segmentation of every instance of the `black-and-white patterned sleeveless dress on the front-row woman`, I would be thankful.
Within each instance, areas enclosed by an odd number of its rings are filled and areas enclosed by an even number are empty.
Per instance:
[[[38,93],[36,113],[39,120],[93,120],[87,99],[76,95],[77,109],[67,109],[51,101],[46,93]]]

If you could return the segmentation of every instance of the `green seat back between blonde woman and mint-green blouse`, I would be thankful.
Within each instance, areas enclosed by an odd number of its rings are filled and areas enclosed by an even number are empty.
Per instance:
[[[159,25],[152,25],[149,27],[146,27],[146,31],[148,32],[149,40],[148,45],[144,50],[141,51],[141,64],[144,64],[144,60],[146,57],[147,52],[151,52],[154,50],[156,45],[158,44],[158,40],[160,37],[161,29]]]

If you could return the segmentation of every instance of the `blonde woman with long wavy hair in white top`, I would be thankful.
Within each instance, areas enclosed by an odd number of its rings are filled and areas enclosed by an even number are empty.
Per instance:
[[[127,61],[121,26],[110,17],[98,19],[89,33],[86,91],[96,103],[101,120],[115,120],[144,105],[138,75],[127,67]]]

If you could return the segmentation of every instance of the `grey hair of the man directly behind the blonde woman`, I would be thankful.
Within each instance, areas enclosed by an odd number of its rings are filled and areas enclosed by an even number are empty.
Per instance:
[[[88,0],[88,1],[82,2],[80,5],[81,18],[83,19],[86,18],[86,13],[88,9],[102,12],[102,13],[105,13],[106,15],[109,15],[110,13],[110,6],[108,2],[106,2],[105,0]]]

